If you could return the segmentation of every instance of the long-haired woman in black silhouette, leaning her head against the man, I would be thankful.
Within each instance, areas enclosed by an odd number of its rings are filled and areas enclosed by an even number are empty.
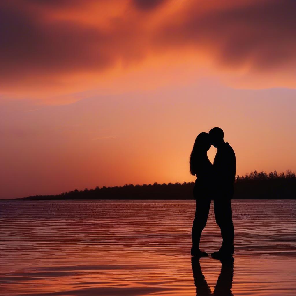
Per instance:
[[[202,230],[207,224],[212,198],[214,168],[207,157],[207,151],[210,147],[209,134],[200,133],[195,139],[190,155],[190,173],[197,177],[193,189],[196,209],[192,225],[191,255],[198,257],[208,255],[200,250],[199,245]]]

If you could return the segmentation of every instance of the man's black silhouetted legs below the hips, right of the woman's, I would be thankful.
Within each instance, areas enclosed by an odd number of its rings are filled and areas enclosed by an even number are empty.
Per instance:
[[[222,247],[220,252],[233,254],[234,252],[234,227],[232,222],[231,199],[221,197],[214,200],[214,211],[216,223],[221,229]]]

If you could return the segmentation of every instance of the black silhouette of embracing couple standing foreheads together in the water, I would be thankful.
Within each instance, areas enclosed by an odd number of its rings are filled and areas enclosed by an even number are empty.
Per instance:
[[[217,148],[214,164],[207,157],[211,145]],[[213,257],[232,257],[234,253],[234,227],[232,222],[231,198],[235,179],[235,154],[231,146],[224,142],[221,128],[213,128],[209,133],[200,133],[194,142],[190,156],[190,173],[196,181],[193,189],[196,200],[195,218],[192,225],[192,256],[207,256],[200,250],[200,237],[207,224],[211,200],[214,201],[215,220],[221,229],[222,246]]]

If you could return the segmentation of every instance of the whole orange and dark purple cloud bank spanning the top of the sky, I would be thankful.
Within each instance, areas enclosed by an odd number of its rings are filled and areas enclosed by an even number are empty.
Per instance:
[[[26,93],[63,89],[75,78],[73,88],[84,90],[107,70],[157,56],[183,55],[187,63],[190,50],[214,69],[243,69],[244,78],[255,80],[264,73],[267,81],[281,73],[273,86],[295,87],[295,11],[293,0],[4,2],[0,86]]]

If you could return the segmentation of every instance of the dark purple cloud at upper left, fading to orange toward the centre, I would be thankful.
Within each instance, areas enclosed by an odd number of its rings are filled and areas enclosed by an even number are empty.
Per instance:
[[[0,79],[78,70],[100,70],[117,60],[139,58],[139,31],[124,19],[100,30],[70,20],[0,4]]]

